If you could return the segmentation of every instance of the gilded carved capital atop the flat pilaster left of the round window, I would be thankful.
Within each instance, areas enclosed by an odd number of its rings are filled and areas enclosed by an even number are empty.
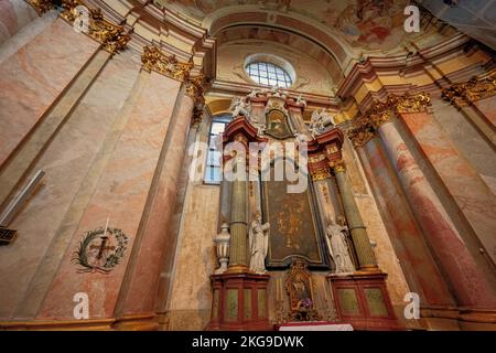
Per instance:
[[[141,64],[147,72],[154,71],[181,82],[190,78],[190,71],[193,67],[193,63],[180,63],[174,55],[166,55],[154,45],[144,46]]]

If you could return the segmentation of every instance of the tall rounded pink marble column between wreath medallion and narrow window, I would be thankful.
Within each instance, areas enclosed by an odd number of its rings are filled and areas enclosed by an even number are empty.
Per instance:
[[[164,252],[174,258],[176,234],[171,233],[171,216],[174,212],[179,176],[185,156],[186,137],[193,113],[193,99],[183,96],[177,100],[173,121],[164,146],[164,156],[157,192],[145,221],[143,238],[136,253],[136,266],[129,270],[130,285],[126,290],[120,314],[153,313],[157,301],[159,276]]]

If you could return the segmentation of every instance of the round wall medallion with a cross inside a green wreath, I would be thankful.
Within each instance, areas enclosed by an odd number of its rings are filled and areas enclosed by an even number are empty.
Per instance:
[[[118,228],[97,228],[87,232],[74,252],[73,263],[82,272],[110,272],[123,257],[128,236]]]

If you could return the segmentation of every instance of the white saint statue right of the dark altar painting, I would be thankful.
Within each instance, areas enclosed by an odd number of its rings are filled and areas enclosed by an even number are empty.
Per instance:
[[[327,226],[327,246],[336,264],[337,274],[355,271],[346,242],[347,232],[348,227],[345,225],[343,216],[337,217],[337,223],[331,220],[331,224]]]

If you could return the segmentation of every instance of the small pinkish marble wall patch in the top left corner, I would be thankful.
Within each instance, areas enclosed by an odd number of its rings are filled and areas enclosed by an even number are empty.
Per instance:
[[[24,0],[0,0],[0,45],[37,17]]]

